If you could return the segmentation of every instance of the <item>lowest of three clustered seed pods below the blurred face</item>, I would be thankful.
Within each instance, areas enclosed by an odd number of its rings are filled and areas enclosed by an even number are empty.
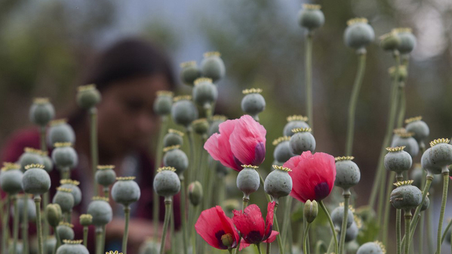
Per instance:
[[[87,213],[91,214],[92,225],[96,227],[105,226],[113,219],[113,210],[108,203],[108,198],[102,196],[92,197]]]

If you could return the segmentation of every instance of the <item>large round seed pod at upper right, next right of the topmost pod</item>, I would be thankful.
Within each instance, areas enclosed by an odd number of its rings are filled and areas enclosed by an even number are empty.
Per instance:
[[[372,26],[367,24],[367,19],[357,17],[347,22],[344,33],[344,42],[347,46],[357,50],[365,50],[365,47],[375,40]]]

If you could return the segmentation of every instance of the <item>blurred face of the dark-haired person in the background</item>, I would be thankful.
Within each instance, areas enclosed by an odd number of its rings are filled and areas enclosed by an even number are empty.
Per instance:
[[[99,103],[99,150],[120,155],[147,148],[159,117],[154,115],[156,92],[170,89],[163,75],[135,78],[112,84]]]

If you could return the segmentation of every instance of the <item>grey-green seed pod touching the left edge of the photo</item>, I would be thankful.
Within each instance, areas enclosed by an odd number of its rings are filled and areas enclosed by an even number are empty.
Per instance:
[[[22,177],[19,164],[6,163],[0,171],[0,187],[4,192],[15,195],[22,191]]]

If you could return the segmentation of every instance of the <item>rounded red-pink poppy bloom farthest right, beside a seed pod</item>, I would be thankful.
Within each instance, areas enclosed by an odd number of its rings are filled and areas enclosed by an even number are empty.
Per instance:
[[[330,195],[336,180],[334,157],[328,153],[303,152],[290,158],[283,167],[292,169],[291,196],[305,203],[307,200],[321,201]]]

